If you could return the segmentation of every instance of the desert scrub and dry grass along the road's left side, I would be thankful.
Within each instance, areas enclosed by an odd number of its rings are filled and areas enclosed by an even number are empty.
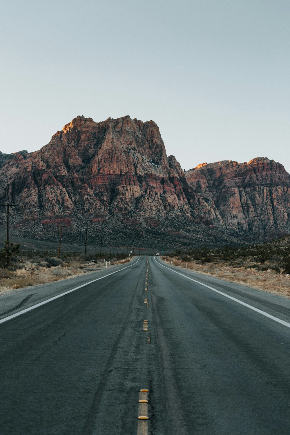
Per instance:
[[[55,251],[21,251],[19,245],[16,245],[15,249],[6,242],[4,245],[0,257],[0,294],[12,289],[59,281],[100,270],[106,267],[106,261],[110,261],[111,266],[130,261],[126,255],[114,254],[110,257],[106,253],[102,256],[85,256],[80,253],[62,252],[61,258],[57,258]]]

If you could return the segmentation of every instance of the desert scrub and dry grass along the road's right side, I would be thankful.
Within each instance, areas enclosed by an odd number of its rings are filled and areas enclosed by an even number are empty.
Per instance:
[[[290,236],[250,246],[174,251],[166,261],[225,281],[290,297]]]

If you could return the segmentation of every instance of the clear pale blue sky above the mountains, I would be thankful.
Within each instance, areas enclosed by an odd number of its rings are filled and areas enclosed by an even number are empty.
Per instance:
[[[0,151],[130,115],[185,169],[269,157],[290,172],[289,0],[10,0],[0,20]]]

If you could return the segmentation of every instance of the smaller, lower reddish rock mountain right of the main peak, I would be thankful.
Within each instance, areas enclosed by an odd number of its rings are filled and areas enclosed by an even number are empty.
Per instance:
[[[197,194],[213,201],[225,226],[266,238],[289,231],[290,176],[280,163],[265,157],[204,163],[185,177]]]

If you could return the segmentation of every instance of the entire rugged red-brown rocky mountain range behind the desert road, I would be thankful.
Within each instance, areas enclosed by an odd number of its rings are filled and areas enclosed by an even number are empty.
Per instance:
[[[0,154],[0,202],[17,206],[12,231],[43,240],[56,238],[57,224],[70,241],[88,227],[91,240],[164,247],[285,234],[289,189],[289,174],[268,159],[184,174],[157,125],[129,116],[78,116],[39,151]]]

